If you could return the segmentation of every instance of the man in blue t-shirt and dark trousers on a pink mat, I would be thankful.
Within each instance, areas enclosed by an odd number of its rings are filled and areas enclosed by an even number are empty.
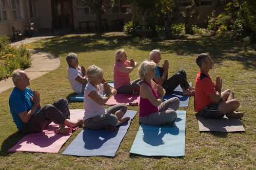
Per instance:
[[[56,133],[68,134],[71,130],[70,127],[76,127],[83,123],[82,120],[74,123],[67,120],[70,112],[66,99],[59,99],[53,104],[42,107],[39,92],[32,91],[27,87],[30,85],[30,79],[25,71],[14,70],[12,80],[15,87],[9,98],[9,106],[13,120],[20,132],[28,134],[41,132],[53,121],[59,124]]]

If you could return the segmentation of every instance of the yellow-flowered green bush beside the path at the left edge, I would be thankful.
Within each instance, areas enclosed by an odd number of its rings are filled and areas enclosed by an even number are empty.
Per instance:
[[[11,76],[12,71],[31,66],[31,55],[28,45],[11,46],[9,37],[0,36],[0,80]]]

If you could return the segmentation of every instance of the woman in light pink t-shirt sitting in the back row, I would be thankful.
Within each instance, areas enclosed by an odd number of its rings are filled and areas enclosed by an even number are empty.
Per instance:
[[[134,94],[139,93],[140,79],[132,82],[130,79],[130,72],[138,66],[138,63],[133,59],[127,60],[127,55],[124,49],[120,49],[115,53],[115,66],[114,66],[114,87],[118,93],[121,94]]]

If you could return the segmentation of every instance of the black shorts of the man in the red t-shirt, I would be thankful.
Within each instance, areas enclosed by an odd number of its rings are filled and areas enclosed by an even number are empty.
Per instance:
[[[224,102],[222,98],[218,102],[213,102],[198,112],[198,115],[203,118],[221,119],[225,114],[218,112],[219,103]]]

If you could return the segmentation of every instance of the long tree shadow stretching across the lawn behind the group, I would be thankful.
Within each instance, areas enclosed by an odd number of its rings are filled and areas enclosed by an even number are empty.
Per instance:
[[[182,36],[179,39],[143,44],[135,43],[131,38],[124,35],[75,34],[54,37],[43,43],[38,43],[39,48],[36,50],[47,51],[56,56],[70,51],[77,53],[116,50],[127,45],[142,51],[149,52],[153,49],[160,49],[162,53],[191,55],[193,58],[196,58],[199,53],[209,52],[216,63],[225,60],[238,61],[244,66],[244,69],[256,69],[255,44],[230,39],[217,39],[213,36]]]

